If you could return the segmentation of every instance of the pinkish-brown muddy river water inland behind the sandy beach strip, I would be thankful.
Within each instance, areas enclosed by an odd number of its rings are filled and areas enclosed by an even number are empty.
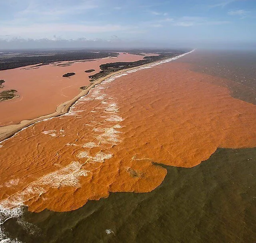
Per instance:
[[[26,66],[0,71],[0,79],[5,80],[3,90],[17,90],[20,96],[14,100],[0,102],[0,126],[18,124],[23,120],[32,120],[40,116],[54,113],[56,108],[77,96],[81,86],[90,84],[88,76],[100,71],[99,66],[108,62],[134,62],[144,56],[120,54],[117,58],[102,58],[88,62],[76,61],[71,66],[56,66],[60,63],[40,66]],[[68,64],[61,62],[61,64]],[[95,69],[88,74],[84,71]],[[68,72],[76,75],[62,77]]]

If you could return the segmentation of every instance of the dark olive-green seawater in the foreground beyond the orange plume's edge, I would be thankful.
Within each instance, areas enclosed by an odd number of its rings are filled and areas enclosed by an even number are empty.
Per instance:
[[[40,229],[34,236],[15,219],[5,229],[38,243],[255,242],[256,148],[218,149],[196,167],[165,167],[164,182],[150,193],[111,193],[71,212],[26,211]]]

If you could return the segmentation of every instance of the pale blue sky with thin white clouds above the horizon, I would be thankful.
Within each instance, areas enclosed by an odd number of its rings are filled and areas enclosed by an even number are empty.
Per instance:
[[[256,0],[0,0],[0,9],[0,49],[256,43]]]

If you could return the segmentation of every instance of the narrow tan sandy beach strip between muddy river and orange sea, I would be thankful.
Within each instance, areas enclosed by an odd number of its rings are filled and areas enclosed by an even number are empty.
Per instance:
[[[171,58],[170,61],[176,60],[177,58],[185,56],[186,54],[189,54],[189,53],[191,53],[193,51],[194,50],[192,50],[190,52],[186,52],[186,53],[184,53],[184,54],[182,54],[180,56],[175,56],[174,58]],[[33,125],[36,122],[47,120],[47,119],[51,119],[51,118],[58,117],[58,116],[66,114],[67,112],[69,112],[70,108],[74,105],[74,103],[76,103],[76,101],[79,98],[81,98],[82,96],[86,96],[92,88],[94,88],[96,85],[102,83],[104,80],[106,80],[108,78],[111,78],[114,75],[121,74],[123,72],[127,72],[127,71],[138,69],[138,68],[142,68],[142,67],[145,67],[145,66],[151,66],[151,65],[154,65],[154,64],[157,64],[157,63],[169,60],[169,59],[170,58],[165,58],[163,60],[158,60],[156,62],[152,62],[152,63],[149,63],[149,64],[144,64],[144,65],[136,66],[136,67],[133,67],[133,68],[127,68],[127,69],[119,70],[119,71],[113,72],[111,74],[108,74],[108,75],[106,75],[106,76],[104,76],[102,78],[99,78],[98,80],[96,80],[92,84],[90,84],[90,86],[88,86],[85,90],[82,90],[72,100],[68,100],[68,101],[66,101],[64,103],[59,104],[57,106],[56,111],[54,113],[47,114],[47,115],[44,115],[44,116],[40,116],[40,117],[34,118],[32,120],[22,120],[18,124],[13,124],[13,125],[7,125],[7,126],[0,127],[0,144],[3,141],[5,141],[5,140],[9,139],[10,137],[12,137],[13,135],[15,135],[16,133],[18,133],[19,131],[25,129],[26,127],[29,127],[30,125]]]

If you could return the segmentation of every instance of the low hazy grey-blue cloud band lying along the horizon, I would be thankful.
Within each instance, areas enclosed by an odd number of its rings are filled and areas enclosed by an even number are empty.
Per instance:
[[[206,50],[256,50],[255,42],[193,42],[177,41],[170,43],[154,43],[150,40],[49,40],[14,38],[0,40],[0,50],[58,50],[58,49],[206,49]]]

